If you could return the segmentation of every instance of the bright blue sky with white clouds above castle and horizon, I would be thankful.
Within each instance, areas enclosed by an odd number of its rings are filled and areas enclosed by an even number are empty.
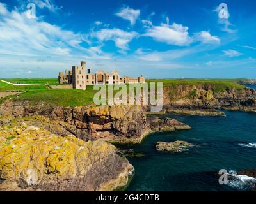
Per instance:
[[[52,78],[82,60],[146,78],[256,78],[255,10],[253,0],[0,0],[0,78]]]

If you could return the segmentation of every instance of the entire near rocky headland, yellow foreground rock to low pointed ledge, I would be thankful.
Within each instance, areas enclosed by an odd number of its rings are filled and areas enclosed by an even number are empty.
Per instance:
[[[141,106],[63,108],[6,101],[0,110],[0,191],[122,189],[134,172],[125,157],[142,155],[118,152],[108,142],[139,143],[156,131],[190,129],[174,119],[147,117]]]

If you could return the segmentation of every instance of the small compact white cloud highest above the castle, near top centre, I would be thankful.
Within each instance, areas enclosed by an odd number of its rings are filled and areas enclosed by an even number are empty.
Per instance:
[[[129,20],[131,25],[134,25],[138,17],[140,17],[140,10],[134,10],[129,7],[124,7],[121,8],[121,10],[116,13],[116,15],[125,20]]]

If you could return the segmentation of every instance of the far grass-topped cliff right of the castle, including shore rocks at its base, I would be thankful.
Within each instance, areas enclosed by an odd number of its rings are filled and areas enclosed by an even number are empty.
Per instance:
[[[255,111],[255,89],[214,85],[174,85],[164,87],[163,103],[167,111],[191,115],[223,115],[217,108]]]

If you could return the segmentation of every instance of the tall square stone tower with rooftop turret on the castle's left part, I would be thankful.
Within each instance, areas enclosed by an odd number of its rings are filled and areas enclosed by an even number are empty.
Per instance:
[[[82,61],[81,66],[72,66],[73,89],[86,89],[86,62]]]

